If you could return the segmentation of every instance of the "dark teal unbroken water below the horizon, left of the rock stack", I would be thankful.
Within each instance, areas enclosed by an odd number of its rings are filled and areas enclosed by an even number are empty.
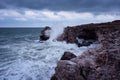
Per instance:
[[[0,28],[0,44],[39,39],[41,28]]]

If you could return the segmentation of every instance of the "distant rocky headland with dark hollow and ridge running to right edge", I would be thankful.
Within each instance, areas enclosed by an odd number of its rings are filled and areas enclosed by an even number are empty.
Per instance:
[[[88,46],[93,41],[98,39],[98,29],[105,27],[115,27],[119,24],[120,20],[100,24],[91,23],[72,27],[68,26],[64,29],[63,34],[60,35],[57,40],[66,41],[67,43],[76,43],[78,46]],[[79,39],[84,39],[84,41],[80,43]]]

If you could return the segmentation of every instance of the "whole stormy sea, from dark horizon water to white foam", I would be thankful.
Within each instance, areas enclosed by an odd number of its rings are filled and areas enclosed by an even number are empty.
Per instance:
[[[0,28],[0,80],[50,80],[64,51],[80,55],[95,44],[77,47],[50,39],[40,41],[42,28]]]

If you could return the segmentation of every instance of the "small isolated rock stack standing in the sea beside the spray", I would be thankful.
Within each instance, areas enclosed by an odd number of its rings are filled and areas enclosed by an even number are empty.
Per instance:
[[[46,26],[40,33],[40,40],[48,40],[50,37],[51,28]]]

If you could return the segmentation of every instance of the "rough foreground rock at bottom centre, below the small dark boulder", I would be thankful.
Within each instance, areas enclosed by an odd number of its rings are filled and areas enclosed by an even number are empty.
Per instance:
[[[72,62],[71,62],[72,63]],[[56,74],[53,75],[53,80],[86,80],[81,75],[82,70],[77,67],[76,64],[71,64],[67,60],[59,61],[56,68]],[[51,79],[51,80],[52,80]]]

